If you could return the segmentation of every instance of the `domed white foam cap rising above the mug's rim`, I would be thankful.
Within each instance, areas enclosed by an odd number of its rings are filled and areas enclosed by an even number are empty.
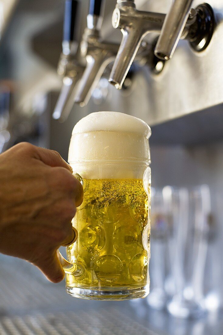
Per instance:
[[[144,121],[134,116],[117,112],[96,112],[81,119],[73,129],[73,134],[93,131],[129,132],[149,138],[151,129]]]

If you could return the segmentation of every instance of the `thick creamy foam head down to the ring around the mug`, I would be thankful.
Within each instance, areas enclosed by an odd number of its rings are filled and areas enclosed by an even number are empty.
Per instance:
[[[81,119],[73,129],[69,163],[150,163],[151,129],[142,120],[117,112],[97,112]]]

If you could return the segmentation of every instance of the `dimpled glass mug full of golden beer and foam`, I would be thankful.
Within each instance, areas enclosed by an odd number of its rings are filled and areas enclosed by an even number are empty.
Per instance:
[[[84,188],[72,221],[77,241],[62,259],[67,292],[124,300],[149,293],[149,126],[116,112],[92,113],[74,127],[69,163]]]

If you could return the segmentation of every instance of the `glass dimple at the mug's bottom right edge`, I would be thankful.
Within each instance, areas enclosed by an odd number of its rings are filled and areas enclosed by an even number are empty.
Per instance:
[[[142,281],[147,274],[147,256],[146,254],[135,255],[129,264],[129,273],[133,280]]]

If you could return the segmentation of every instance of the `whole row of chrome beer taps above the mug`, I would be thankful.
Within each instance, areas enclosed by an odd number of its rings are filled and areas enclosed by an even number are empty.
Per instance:
[[[120,44],[115,44],[101,38],[105,0],[90,0],[87,27],[78,48],[75,34],[79,2],[66,0],[63,53],[58,67],[63,87],[53,118],[64,122],[74,103],[86,106],[109,64],[113,63],[108,80],[121,89],[133,61],[149,65],[152,54],[159,63],[157,73],[172,58],[180,39],[187,40],[196,52],[206,49],[215,27],[214,13],[209,4],[194,9],[192,2],[175,0],[165,15],[139,11],[134,0],[117,0],[112,25],[123,37]],[[143,41],[150,32],[159,34],[154,47]],[[78,49],[81,57],[77,57]]]

